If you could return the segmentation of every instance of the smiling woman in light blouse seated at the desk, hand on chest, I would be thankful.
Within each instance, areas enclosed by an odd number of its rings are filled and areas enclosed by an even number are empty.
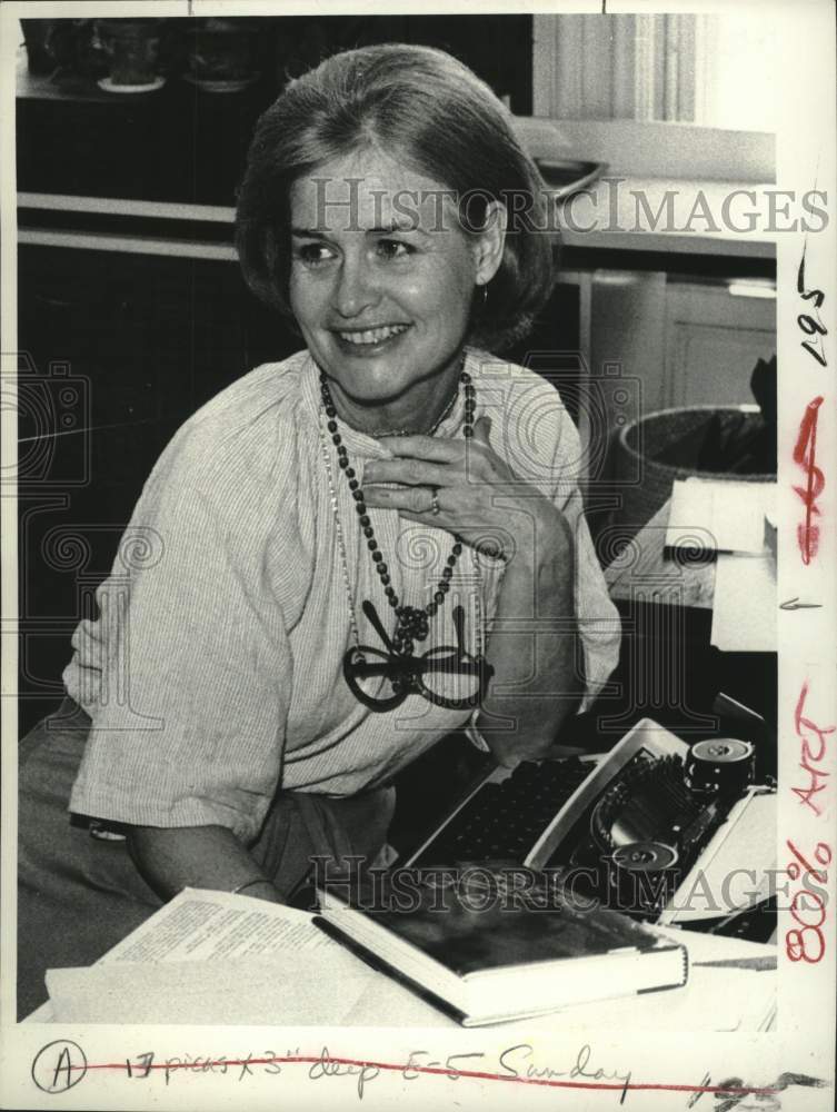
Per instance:
[[[260,120],[239,252],[306,347],[176,435],[126,534],[142,558],[118,558],[61,717],[27,741],[30,1006],[43,969],[185,885],[281,901],[313,853],[373,858],[419,753],[470,723],[504,763],[541,755],[607,678],[576,430],[487,354],[550,289],[538,182],[436,50],[337,56]],[[70,785],[127,842],[68,827]]]

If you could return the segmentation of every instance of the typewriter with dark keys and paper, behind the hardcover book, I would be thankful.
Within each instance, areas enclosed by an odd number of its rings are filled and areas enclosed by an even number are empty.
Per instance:
[[[495,768],[405,864],[481,862],[554,870],[577,896],[716,930],[774,895],[775,785],[755,783],[750,742],[688,745],[644,718],[607,754]]]

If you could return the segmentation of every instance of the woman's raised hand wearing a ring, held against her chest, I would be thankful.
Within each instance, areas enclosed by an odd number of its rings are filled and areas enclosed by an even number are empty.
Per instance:
[[[397,509],[407,520],[447,529],[489,555],[508,558],[524,546],[538,563],[554,554],[556,538],[566,540],[562,514],[497,455],[490,428],[490,418],[480,417],[468,440],[381,438],[395,458],[366,465],[367,506]],[[378,485],[382,483],[399,486]]]

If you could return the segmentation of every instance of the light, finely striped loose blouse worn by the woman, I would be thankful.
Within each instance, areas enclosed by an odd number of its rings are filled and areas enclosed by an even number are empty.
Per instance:
[[[578,434],[534,373],[474,350],[466,369],[476,416],[491,417],[492,448],[575,532],[586,705],[616,664],[619,619],[582,514]],[[437,436],[461,437],[462,393]],[[365,463],[387,454],[345,423],[340,431],[362,481]],[[399,598],[425,606],[452,537],[395,510],[370,516]],[[457,603],[478,652],[501,568],[464,546],[417,652],[456,644]],[[247,842],[277,787],[348,795],[377,786],[464,726],[468,709],[419,695],[388,713],[355,698],[342,674],[353,644],[349,587],[361,643],[382,648],[360,605],[371,599],[390,633],[395,616],[325,428],[317,367],[301,351],[203,406],[148,479],[97,594],[98,636],[77,631],[64,672],[92,718],[71,810],[138,825],[218,824]],[[549,635],[532,618],[536,628]]]

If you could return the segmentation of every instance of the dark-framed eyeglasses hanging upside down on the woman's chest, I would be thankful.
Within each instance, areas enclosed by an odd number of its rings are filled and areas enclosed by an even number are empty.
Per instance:
[[[383,653],[379,648],[372,648],[368,645],[358,645],[350,648],[343,656],[343,676],[358,702],[381,713],[400,706],[408,695],[421,695],[436,706],[444,706],[449,711],[467,711],[480,705],[494,675],[494,667],[485,656],[472,656],[465,651],[465,610],[461,606],[454,607],[457,644],[437,645],[420,656],[412,653],[399,653],[383,628],[372,603],[368,599],[365,600],[362,608],[387,652]],[[425,683],[426,675],[437,673],[476,676],[479,681],[477,691],[466,698],[448,698],[445,695],[439,695]],[[360,686],[359,679],[373,676],[386,676],[398,689],[386,698],[376,698],[369,695]]]

